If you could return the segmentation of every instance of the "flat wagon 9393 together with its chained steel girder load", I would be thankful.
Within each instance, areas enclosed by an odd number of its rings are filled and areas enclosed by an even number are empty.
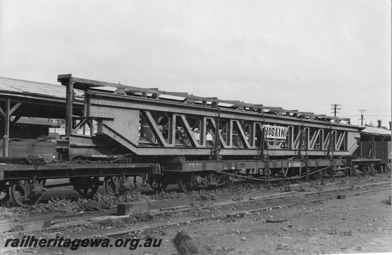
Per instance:
[[[154,188],[219,185],[243,172],[266,181],[333,174],[358,148],[360,128],[340,123],[349,119],[72,75],[58,81],[67,87],[64,157],[129,153],[133,162],[158,165],[159,175],[144,176]],[[84,91],[83,112],[72,108],[73,89]],[[93,135],[76,133],[92,123]]]

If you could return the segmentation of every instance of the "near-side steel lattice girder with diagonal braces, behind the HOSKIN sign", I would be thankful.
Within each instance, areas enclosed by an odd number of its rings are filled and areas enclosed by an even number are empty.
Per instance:
[[[119,96],[108,93],[89,93],[87,95],[89,109],[86,112],[87,117],[101,119],[98,122],[98,130],[112,137],[114,140],[137,154],[199,154],[208,155],[211,149],[207,149],[206,136],[208,127],[215,132],[217,110],[202,105],[183,104],[177,102],[161,102],[153,99],[144,99],[130,96]],[[179,108],[183,106],[183,108]],[[139,118],[139,114],[141,117]],[[153,116],[154,115],[154,116]],[[166,122],[159,123],[158,119],[166,119]],[[260,137],[263,129],[261,114],[231,109],[221,109],[221,123],[219,140],[221,143],[221,155],[257,155],[260,154],[260,148],[256,147],[257,133]],[[140,119],[144,120],[145,125],[154,135],[155,142],[149,144],[152,147],[143,147],[139,142]],[[301,132],[301,120],[293,117],[268,115],[265,117],[266,123],[279,124],[287,127],[288,137],[291,142],[287,149],[281,150],[279,143],[282,141],[270,141],[271,155],[294,155],[301,144],[299,134]],[[329,123],[304,120],[306,125],[306,146],[309,155],[324,154],[324,151],[330,146],[331,132]],[[199,139],[194,136],[192,126],[202,127],[198,130]],[[146,126],[146,127],[147,127]],[[165,138],[162,134],[164,128],[160,130],[159,126],[167,127],[169,135]],[[359,137],[358,128],[354,126],[333,124],[332,143],[336,155],[346,155],[347,151],[351,153],[357,147],[356,141]],[[189,140],[189,146],[179,148],[180,144],[175,143],[175,130],[180,127]],[[244,130],[246,128],[246,130]],[[294,129],[297,129],[294,132]],[[310,135],[312,132],[312,135]],[[248,134],[248,135],[247,135]],[[225,137],[223,137],[225,136]],[[241,141],[241,147],[233,145],[233,136],[237,136]],[[272,147],[272,143],[276,143]],[[148,144],[148,143],[147,143]],[[315,145],[319,148],[315,149]],[[343,150],[341,145],[343,144]],[[76,149],[76,148],[75,148]],[[196,150],[195,150],[196,149]],[[238,150],[240,149],[240,150]],[[246,149],[246,150],[245,150]],[[181,151],[181,153],[180,153]]]

